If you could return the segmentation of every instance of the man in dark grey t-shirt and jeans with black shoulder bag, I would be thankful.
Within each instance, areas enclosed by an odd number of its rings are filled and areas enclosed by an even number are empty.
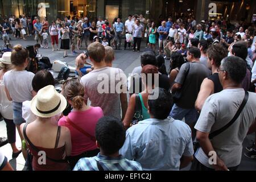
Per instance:
[[[172,86],[172,93],[177,90],[181,92],[181,98],[176,101],[172,107],[170,116],[174,119],[182,120],[193,128],[198,114],[195,109],[195,102],[200,91],[201,83],[204,78],[209,76],[209,69],[200,63],[200,50],[192,47],[188,50],[187,59],[189,63],[181,66],[180,71],[175,79],[175,84]],[[189,71],[187,70],[189,64]],[[185,77],[188,72],[187,77]]]

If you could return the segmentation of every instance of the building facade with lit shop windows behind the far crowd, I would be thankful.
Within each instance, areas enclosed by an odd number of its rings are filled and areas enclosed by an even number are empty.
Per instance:
[[[214,6],[216,10],[214,11]],[[173,16],[195,16],[202,19],[246,20],[256,17],[255,0],[0,0],[1,17],[22,14],[44,16],[48,20],[64,16],[102,16],[109,22],[116,17],[126,19],[129,14],[143,14],[155,22]]]

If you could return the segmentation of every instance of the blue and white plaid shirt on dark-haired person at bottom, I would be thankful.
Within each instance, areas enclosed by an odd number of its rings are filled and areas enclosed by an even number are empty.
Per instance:
[[[97,161],[104,171],[142,171],[141,164],[133,160],[127,160],[119,155],[117,158],[100,155],[92,158],[82,158],[77,162],[73,171],[99,171]]]

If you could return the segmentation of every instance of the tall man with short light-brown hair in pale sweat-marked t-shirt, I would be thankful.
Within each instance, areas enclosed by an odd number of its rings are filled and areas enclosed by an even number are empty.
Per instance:
[[[88,99],[91,106],[99,106],[105,116],[125,117],[127,110],[126,79],[119,68],[110,68],[105,65],[105,48],[102,44],[94,42],[88,47],[90,60],[94,65],[92,72],[80,80],[85,88],[85,103]],[[121,105],[120,105],[121,103]]]

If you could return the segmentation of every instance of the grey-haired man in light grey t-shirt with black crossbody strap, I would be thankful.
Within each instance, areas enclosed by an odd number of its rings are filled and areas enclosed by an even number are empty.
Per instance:
[[[221,61],[219,78],[223,91],[209,96],[196,123],[196,138],[202,146],[195,153],[192,170],[236,170],[241,162],[242,142],[256,118],[256,94],[249,93],[248,101],[237,120],[225,131],[209,140],[209,133],[227,125],[237,113],[245,90],[242,80],[246,63],[230,56]]]

